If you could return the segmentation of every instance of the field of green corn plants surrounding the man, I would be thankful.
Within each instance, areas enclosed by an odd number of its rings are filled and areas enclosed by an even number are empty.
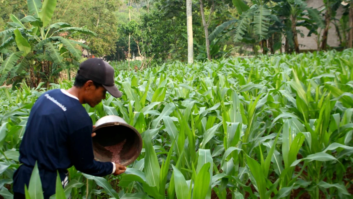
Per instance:
[[[52,198],[352,198],[353,50],[174,62],[116,70],[123,96],[91,108],[118,115],[143,137],[120,176],[69,169]],[[72,82],[51,84],[68,89]],[[0,94],[0,195],[13,197],[18,148],[46,89]],[[43,198],[37,168],[27,198]],[[35,191],[37,190],[37,191]]]

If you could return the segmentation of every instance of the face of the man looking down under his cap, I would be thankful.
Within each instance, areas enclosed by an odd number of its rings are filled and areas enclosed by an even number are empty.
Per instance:
[[[92,81],[87,81],[84,89],[84,101],[90,107],[95,107],[106,98],[107,90],[103,86],[96,87]]]

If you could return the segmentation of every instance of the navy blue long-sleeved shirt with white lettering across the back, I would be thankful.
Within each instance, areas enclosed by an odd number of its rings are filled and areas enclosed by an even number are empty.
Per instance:
[[[94,160],[92,120],[78,98],[65,90],[54,89],[41,95],[31,109],[19,161],[13,176],[13,191],[24,194],[37,161],[44,198],[55,194],[56,171],[62,181],[67,169],[93,176],[113,173],[113,164]]]

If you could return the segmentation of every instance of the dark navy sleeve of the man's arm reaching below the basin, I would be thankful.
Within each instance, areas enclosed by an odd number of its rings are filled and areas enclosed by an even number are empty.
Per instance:
[[[92,126],[85,126],[69,134],[70,159],[78,171],[92,176],[106,176],[115,172],[115,164],[94,159]]]

